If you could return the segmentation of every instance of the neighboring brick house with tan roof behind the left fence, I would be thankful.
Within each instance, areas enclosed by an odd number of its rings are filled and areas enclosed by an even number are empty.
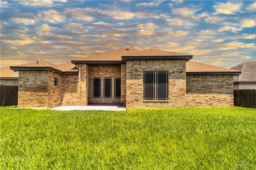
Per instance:
[[[0,85],[18,86],[19,73],[10,69],[10,67],[0,68]]]

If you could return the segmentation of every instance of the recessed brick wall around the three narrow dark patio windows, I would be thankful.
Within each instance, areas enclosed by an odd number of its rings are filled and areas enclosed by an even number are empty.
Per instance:
[[[92,79],[101,77],[101,98],[92,97]],[[112,98],[104,98],[104,77],[112,78]],[[120,98],[114,98],[114,77],[121,77],[120,66],[90,66],[89,67],[89,84],[88,100],[89,103],[120,103]],[[121,78],[122,81],[122,78]]]

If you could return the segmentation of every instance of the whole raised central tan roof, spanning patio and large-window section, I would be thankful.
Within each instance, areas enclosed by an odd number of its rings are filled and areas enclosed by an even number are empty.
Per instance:
[[[120,64],[125,63],[126,59],[192,59],[193,55],[185,55],[179,53],[172,53],[169,51],[162,51],[157,49],[147,49],[145,51],[138,51],[135,49],[124,48],[116,51],[84,57],[77,60],[72,60],[74,64]]]

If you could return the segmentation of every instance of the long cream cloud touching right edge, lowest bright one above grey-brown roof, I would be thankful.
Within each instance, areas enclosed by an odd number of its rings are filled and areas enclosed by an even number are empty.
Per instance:
[[[255,43],[242,43],[242,42],[229,42],[226,44],[221,44],[217,46],[217,49],[220,50],[230,50],[230,49],[238,49],[238,48],[255,48]]]

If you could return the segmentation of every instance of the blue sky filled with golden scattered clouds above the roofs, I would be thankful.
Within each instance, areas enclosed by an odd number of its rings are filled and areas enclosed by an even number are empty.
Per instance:
[[[130,47],[230,68],[256,60],[256,1],[1,1],[1,67]]]

